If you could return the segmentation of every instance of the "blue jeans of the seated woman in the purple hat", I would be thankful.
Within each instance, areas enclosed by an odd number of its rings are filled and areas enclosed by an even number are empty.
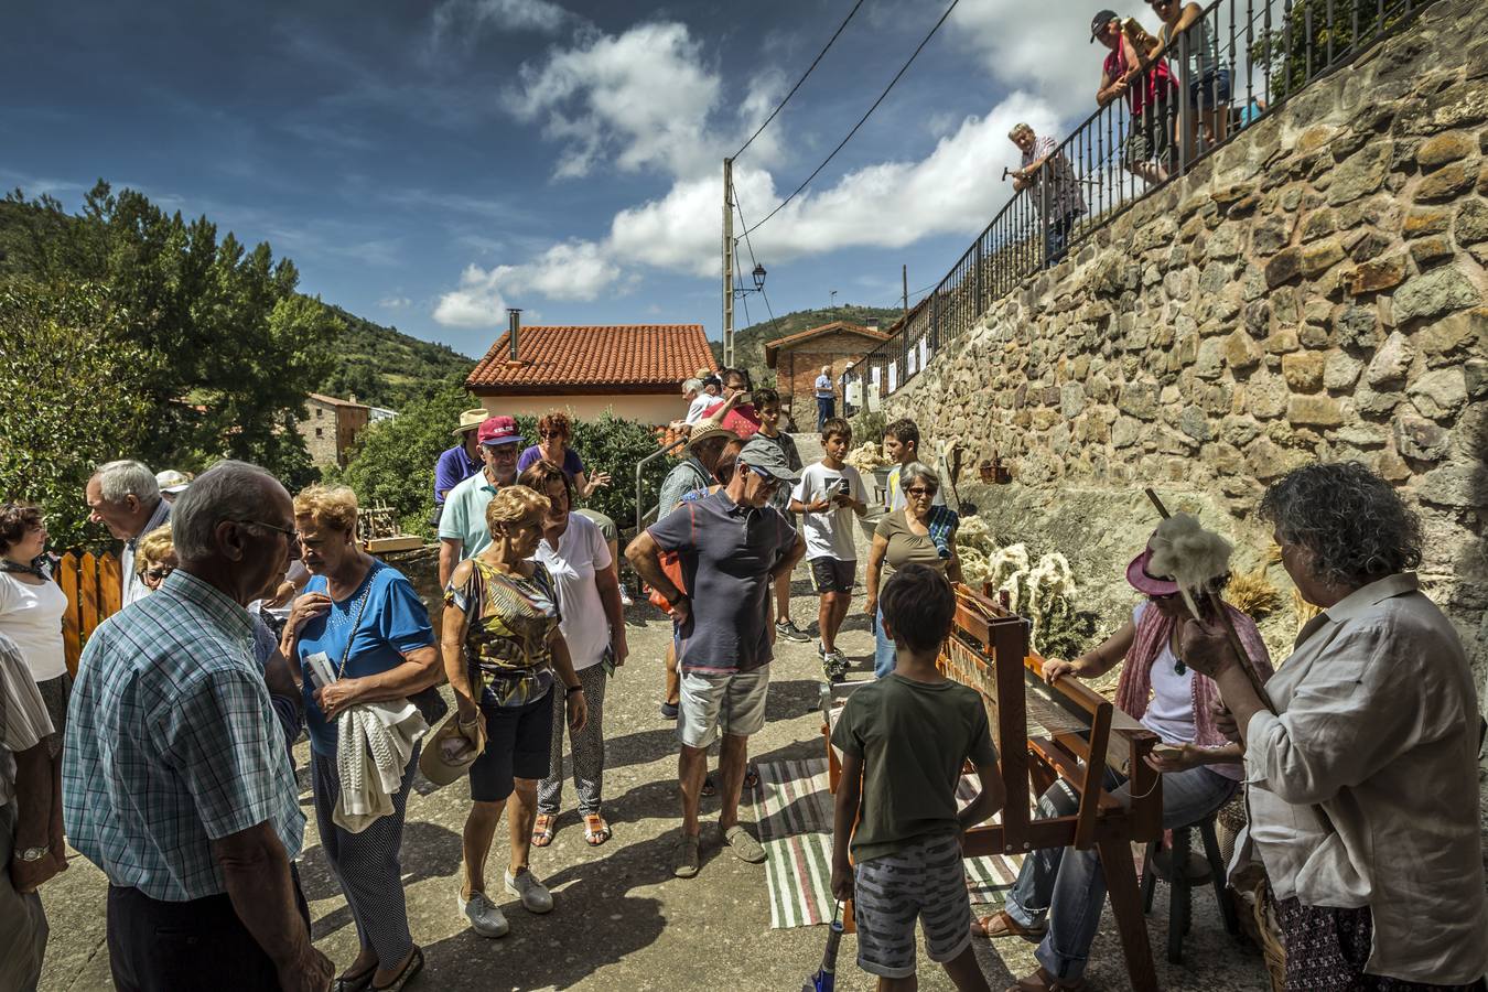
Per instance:
[[[1186,827],[1223,806],[1240,784],[1199,766],[1162,776],[1162,827]],[[1106,788],[1122,806],[1131,805],[1126,781],[1106,773]],[[1064,782],[1039,799],[1040,817],[1073,817],[1079,796]],[[1036,927],[1049,915],[1049,933],[1034,955],[1056,979],[1077,979],[1085,971],[1091,941],[1106,903],[1106,872],[1095,848],[1045,848],[1024,858],[1007,895],[1007,915],[1021,927]]]

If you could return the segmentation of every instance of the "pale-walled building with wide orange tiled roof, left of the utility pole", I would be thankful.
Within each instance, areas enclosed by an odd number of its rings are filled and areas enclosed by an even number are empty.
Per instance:
[[[687,410],[682,382],[713,367],[702,324],[533,326],[497,338],[466,388],[493,413],[670,424]]]

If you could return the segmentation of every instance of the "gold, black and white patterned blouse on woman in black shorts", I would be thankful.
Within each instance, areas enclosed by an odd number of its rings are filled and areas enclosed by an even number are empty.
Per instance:
[[[472,558],[470,579],[445,589],[445,605],[466,614],[470,677],[488,681],[482,702],[524,706],[552,689],[549,638],[562,616],[552,576],[533,562],[531,576],[512,576]]]

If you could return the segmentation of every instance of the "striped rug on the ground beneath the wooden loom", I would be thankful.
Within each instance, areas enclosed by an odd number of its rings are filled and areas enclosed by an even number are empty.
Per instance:
[[[963,778],[957,799],[964,805],[975,794],[975,781]],[[826,759],[760,764],[754,802],[759,839],[768,855],[769,925],[781,930],[832,922],[832,794]],[[1019,864],[1018,857],[967,858],[972,903],[1000,904],[1018,877]]]

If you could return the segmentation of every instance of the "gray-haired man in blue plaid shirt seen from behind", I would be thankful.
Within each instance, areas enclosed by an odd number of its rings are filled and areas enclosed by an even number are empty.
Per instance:
[[[244,605],[298,556],[289,494],[217,464],[176,501],[180,567],[88,640],[62,751],[73,846],[109,876],[138,989],[327,989],[293,858],[305,815]]]

